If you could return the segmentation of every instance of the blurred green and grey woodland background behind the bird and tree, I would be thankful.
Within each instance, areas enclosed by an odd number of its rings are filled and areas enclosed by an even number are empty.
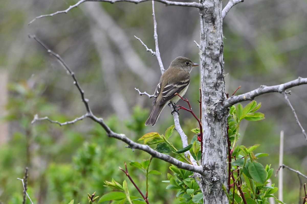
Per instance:
[[[124,161],[140,162],[148,154],[125,148],[108,138],[99,125],[85,119],[59,127],[47,121],[31,125],[33,115],[49,116],[60,122],[85,113],[72,78],[57,61],[28,35],[37,35],[64,59],[75,72],[93,113],[103,117],[112,130],[136,141],[147,132],[164,134],[173,124],[170,110],[161,114],[156,126],[144,126],[153,99],[138,95],[153,93],[161,76],[156,57],[151,56],[134,35],[154,50],[151,2],[138,5],[85,2],[67,14],[35,20],[34,17],[67,9],[76,1],[2,1],[0,7],[0,203],[21,203],[22,184],[29,167],[28,193],[34,203],[87,202],[87,193],[103,195],[110,190],[104,181],[119,183],[118,171]],[[227,1],[224,1],[226,5]],[[199,15],[195,8],[155,3],[157,33],[165,69],[178,56],[199,63]],[[224,19],[226,92],[230,95],[307,77],[307,2],[305,0],[253,0],[239,3]],[[191,72],[185,97],[198,113],[199,68]],[[302,126],[307,129],[306,85],[291,88],[290,101]],[[255,153],[263,165],[278,168],[279,134],[285,132],[284,164],[307,174],[307,142],[283,96],[271,93],[255,98],[262,103],[266,119],[243,122],[239,144],[260,144]],[[186,106],[185,103],[179,102]],[[243,103],[243,105],[247,104]],[[198,127],[192,115],[180,111],[181,125],[191,139]],[[178,134],[171,141],[181,146]],[[162,175],[150,176],[149,200],[179,203],[176,193],[165,191],[169,165],[153,159],[153,169]],[[145,180],[128,166],[144,192]],[[303,197],[294,172],[284,170],[284,200],[297,203]],[[277,178],[272,178],[275,186]],[[129,181],[128,181],[129,184]],[[130,185],[130,194],[138,195]],[[277,194],[275,195],[277,196]],[[29,203],[29,201],[27,201]]]

